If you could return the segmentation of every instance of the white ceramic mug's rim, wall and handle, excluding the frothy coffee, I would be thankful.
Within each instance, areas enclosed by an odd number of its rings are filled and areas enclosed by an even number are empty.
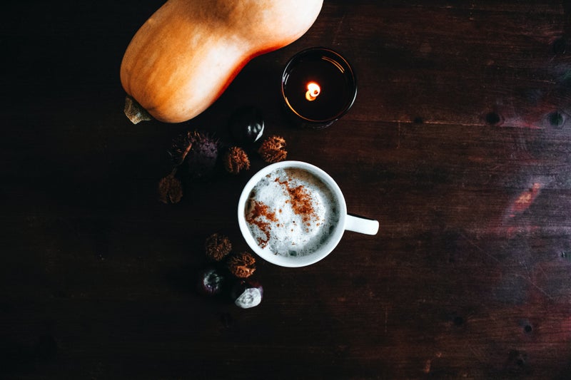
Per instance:
[[[261,183],[261,181],[264,180],[264,178],[268,178],[268,175],[276,173],[278,170],[288,170],[289,173],[299,173],[302,176],[308,174],[310,175],[309,178],[316,179],[320,185],[324,185],[325,187],[324,191],[328,195],[329,199],[329,202],[327,202],[328,206],[325,208],[327,208],[327,210],[332,210],[334,217],[325,221],[323,225],[328,225],[327,230],[326,232],[325,230],[323,231],[323,235],[320,235],[318,242],[313,243],[313,249],[311,249],[310,253],[298,255],[293,251],[285,252],[285,250],[283,250],[282,252],[274,252],[268,246],[261,244],[259,236],[256,237],[256,234],[251,230],[251,228],[254,230],[258,228],[253,225],[251,221],[248,222],[248,215],[251,215],[251,211],[248,210],[251,210],[251,202],[254,202],[253,198],[255,198],[253,190],[256,188],[258,183]],[[278,180],[274,180],[273,182],[278,182]],[[287,191],[284,190],[283,194],[287,194]],[[280,200],[278,199],[280,199],[280,197],[276,197],[275,199],[278,203],[273,205],[273,210],[269,210],[270,212],[273,212],[272,215],[281,213],[282,206],[288,207],[285,204],[281,205],[279,203]],[[290,200],[286,200],[284,203],[288,202],[291,203]],[[323,203],[325,204],[325,202]],[[266,223],[266,221],[259,219],[258,221],[260,223]],[[278,223],[278,226],[280,224],[283,225],[283,222],[281,221],[277,221],[276,223]],[[295,223],[295,221],[293,223]],[[300,223],[298,223],[298,225],[299,224]],[[263,168],[253,175],[248,183],[246,183],[246,186],[242,190],[240,200],[238,200],[238,225],[240,226],[244,239],[256,255],[262,257],[268,262],[281,265],[282,267],[303,267],[305,265],[318,262],[335,249],[340,242],[341,237],[343,237],[343,232],[345,232],[345,230],[360,232],[367,235],[376,235],[379,228],[379,222],[377,220],[348,215],[345,197],[343,197],[343,193],[333,178],[315,165],[301,161],[281,161],[279,163],[274,163],[266,166],[266,168]],[[317,225],[319,226],[320,224],[318,223]],[[285,237],[285,240],[289,240],[289,238],[290,237]]]

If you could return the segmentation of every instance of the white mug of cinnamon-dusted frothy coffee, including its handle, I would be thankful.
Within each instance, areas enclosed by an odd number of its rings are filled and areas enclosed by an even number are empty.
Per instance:
[[[327,173],[300,161],[268,165],[253,175],[238,202],[238,225],[257,255],[285,267],[321,260],[345,230],[378,231],[376,220],[347,215],[345,198]]]

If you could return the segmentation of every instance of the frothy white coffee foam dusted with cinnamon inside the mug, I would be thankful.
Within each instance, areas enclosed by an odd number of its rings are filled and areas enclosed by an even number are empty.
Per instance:
[[[278,169],[254,186],[246,202],[249,230],[276,255],[310,255],[339,220],[333,192],[306,170]]]

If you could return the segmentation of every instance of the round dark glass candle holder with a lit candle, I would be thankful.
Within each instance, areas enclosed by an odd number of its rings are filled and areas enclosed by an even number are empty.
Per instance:
[[[330,48],[307,48],[285,65],[281,94],[285,112],[295,125],[321,129],[353,106],[357,80],[340,53]]]

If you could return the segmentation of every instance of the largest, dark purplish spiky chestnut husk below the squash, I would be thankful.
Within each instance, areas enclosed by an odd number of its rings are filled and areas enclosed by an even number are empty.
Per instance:
[[[186,163],[188,173],[200,178],[210,174],[216,166],[218,145],[216,138],[191,130],[173,140],[169,154],[175,166]]]

